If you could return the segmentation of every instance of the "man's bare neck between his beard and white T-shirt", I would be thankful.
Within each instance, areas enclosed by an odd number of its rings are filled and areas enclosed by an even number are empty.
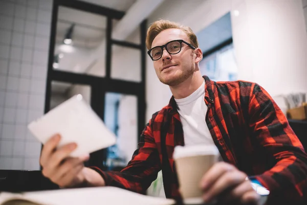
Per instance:
[[[200,71],[195,71],[192,76],[177,86],[170,86],[170,90],[176,99],[189,96],[197,90],[204,82],[204,78]]]

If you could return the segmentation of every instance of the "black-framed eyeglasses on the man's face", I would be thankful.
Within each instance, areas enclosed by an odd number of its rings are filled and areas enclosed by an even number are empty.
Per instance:
[[[182,43],[185,43],[192,49],[196,49],[194,46],[192,46],[188,42],[185,42],[184,40],[171,40],[170,42],[168,42],[163,46],[153,47],[147,53],[152,60],[159,60],[162,57],[163,48],[165,48],[169,54],[177,54],[181,51]]]

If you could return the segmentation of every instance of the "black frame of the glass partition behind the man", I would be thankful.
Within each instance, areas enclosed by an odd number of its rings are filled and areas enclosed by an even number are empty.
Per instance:
[[[71,73],[67,71],[54,70],[54,50],[56,40],[56,26],[58,18],[58,8],[60,6],[69,7],[81,11],[100,14],[107,17],[106,28],[106,60],[105,60],[105,77],[98,77],[87,74]],[[146,54],[146,30],[147,20],[143,20],[140,25],[141,44],[134,44],[122,40],[112,39],[112,20],[121,19],[124,16],[124,12],[117,11],[110,8],[105,8],[91,3],[73,1],[73,0],[54,0],[51,22],[51,35],[49,45],[49,58],[48,58],[48,74],[47,74],[47,86],[45,95],[45,113],[50,110],[51,100],[51,83],[52,81],[60,81],[64,83],[81,84],[91,87],[91,107],[98,114],[98,116],[104,119],[104,98],[107,92],[115,92],[121,94],[135,95],[137,97],[137,129],[138,129],[138,141],[139,136],[142,133],[145,126],[145,54]],[[133,49],[139,49],[141,52],[141,81],[133,82],[121,79],[111,78],[112,68],[112,46],[123,46]],[[96,166],[103,170],[107,168],[102,166],[105,164],[107,151],[106,149],[99,150],[91,153],[90,160],[86,162],[86,166]]]

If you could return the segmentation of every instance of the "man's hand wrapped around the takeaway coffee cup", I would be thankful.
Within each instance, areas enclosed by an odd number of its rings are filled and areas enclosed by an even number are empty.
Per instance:
[[[216,163],[202,178],[203,199],[237,204],[258,204],[260,196],[252,188],[247,175],[225,162]]]

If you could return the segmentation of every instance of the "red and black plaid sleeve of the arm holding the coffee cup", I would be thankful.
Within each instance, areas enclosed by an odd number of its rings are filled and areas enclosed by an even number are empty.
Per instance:
[[[270,170],[254,176],[270,190],[268,204],[303,203],[307,200],[307,155],[286,116],[257,84],[251,89],[249,116],[257,141],[276,161]]]

